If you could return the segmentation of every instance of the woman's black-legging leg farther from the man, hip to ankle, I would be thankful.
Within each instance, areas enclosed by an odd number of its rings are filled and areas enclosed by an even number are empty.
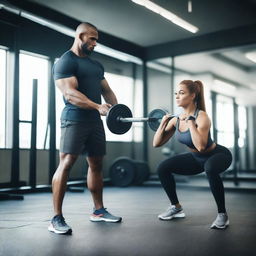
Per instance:
[[[204,164],[204,169],[209,180],[210,188],[218,207],[218,213],[225,213],[224,186],[220,173],[224,172],[232,162],[231,153],[222,146]]]

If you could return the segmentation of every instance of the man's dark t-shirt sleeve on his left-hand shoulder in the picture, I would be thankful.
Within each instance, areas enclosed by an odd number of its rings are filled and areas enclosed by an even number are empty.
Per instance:
[[[60,58],[53,66],[54,80],[76,76],[76,67],[72,58]]]

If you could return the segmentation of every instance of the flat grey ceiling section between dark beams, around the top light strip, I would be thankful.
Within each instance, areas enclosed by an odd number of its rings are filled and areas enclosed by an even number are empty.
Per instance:
[[[188,39],[256,23],[256,1],[252,0],[153,0],[199,28],[192,34],[131,0],[30,0],[80,21],[95,24],[100,31],[152,46]]]

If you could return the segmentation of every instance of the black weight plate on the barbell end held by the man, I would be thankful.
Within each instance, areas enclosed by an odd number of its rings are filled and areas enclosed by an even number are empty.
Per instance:
[[[123,104],[112,106],[107,114],[106,122],[108,129],[115,134],[124,134],[130,130],[132,122],[124,123],[119,120],[120,117],[132,117],[131,110]]]

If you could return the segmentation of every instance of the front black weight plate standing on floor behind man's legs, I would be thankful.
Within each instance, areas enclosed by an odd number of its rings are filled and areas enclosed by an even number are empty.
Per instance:
[[[127,157],[119,157],[111,165],[109,176],[111,183],[118,187],[127,187],[134,181],[136,165],[134,161]]]

